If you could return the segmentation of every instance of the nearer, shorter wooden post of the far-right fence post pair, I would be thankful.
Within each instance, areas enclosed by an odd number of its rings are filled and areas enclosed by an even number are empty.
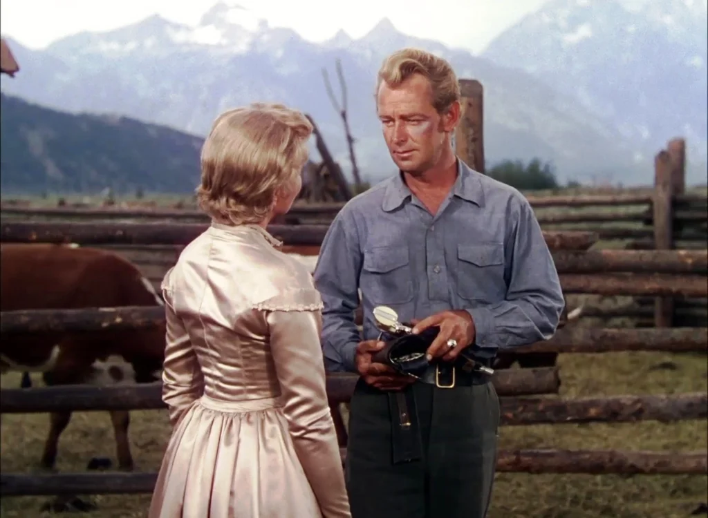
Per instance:
[[[653,228],[654,248],[670,250],[673,248],[673,163],[665,149],[656,154],[654,159],[653,193]],[[654,299],[654,327],[670,328],[673,323],[673,299],[656,297]]]

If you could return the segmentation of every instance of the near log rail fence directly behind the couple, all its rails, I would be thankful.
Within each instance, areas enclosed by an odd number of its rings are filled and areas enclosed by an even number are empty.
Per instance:
[[[144,243],[183,246],[205,229],[205,224],[85,224],[74,222],[2,224],[3,242],[52,242],[107,245]],[[326,225],[273,225],[269,229],[286,244],[319,245]],[[590,250],[598,241],[593,232],[544,231],[566,293],[672,295],[708,297],[708,251]],[[12,311],[0,315],[0,339],[26,333],[148,328],[164,322],[161,307],[93,308]],[[581,328],[566,326],[551,340],[520,347],[534,352],[615,352],[622,350],[708,350],[708,328]],[[331,405],[349,400],[357,381],[353,375],[329,375]],[[611,398],[558,398],[557,367],[503,369],[493,376],[500,395],[501,424],[670,422],[708,417],[708,395]],[[1,413],[56,410],[137,410],[164,408],[159,384],[93,388],[3,389]],[[346,454],[346,449],[342,450]],[[502,450],[498,471],[525,473],[708,473],[707,451],[649,452],[592,450]],[[89,493],[145,493],[152,490],[155,473],[0,474],[0,494],[56,495]]]

